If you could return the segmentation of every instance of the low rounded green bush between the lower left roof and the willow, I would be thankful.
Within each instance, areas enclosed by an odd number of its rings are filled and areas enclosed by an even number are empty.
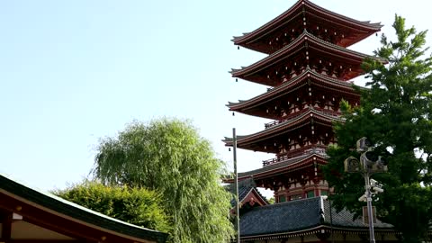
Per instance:
[[[163,232],[172,228],[160,195],[144,188],[105,186],[85,181],[54,193],[117,220]]]

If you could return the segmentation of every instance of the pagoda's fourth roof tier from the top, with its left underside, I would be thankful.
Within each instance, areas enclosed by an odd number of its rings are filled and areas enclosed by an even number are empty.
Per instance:
[[[282,138],[286,136],[287,133],[293,132],[293,130],[302,129],[302,127],[311,124],[312,122],[315,125],[331,128],[333,121],[343,120],[334,113],[318,111],[309,106],[297,116],[285,121],[281,121],[280,123],[275,124],[266,130],[261,130],[246,136],[237,136],[237,147],[254,151],[276,153],[275,149],[272,150],[271,148],[263,148],[263,146],[259,146],[259,143],[266,142],[271,144],[271,141],[275,140],[276,138]],[[225,146],[232,146],[233,144],[232,138],[225,137],[223,141],[225,142]]]

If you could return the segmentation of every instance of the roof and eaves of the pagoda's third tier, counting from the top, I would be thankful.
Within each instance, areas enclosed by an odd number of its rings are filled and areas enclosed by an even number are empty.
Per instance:
[[[229,102],[227,106],[229,107],[229,111],[249,113],[247,112],[247,110],[256,108],[262,103],[267,103],[277,98],[280,98],[284,94],[290,94],[291,92],[296,90],[294,89],[294,87],[298,87],[299,85],[307,85],[307,83],[304,82],[307,79],[310,79],[312,83],[317,83],[326,89],[332,89],[338,92],[338,94],[345,93],[348,95],[359,96],[359,94],[356,94],[354,92],[352,83],[340,81],[337,78],[319,74],[315,70],[307,67],[301,75],[295,76],[293,79],[284,82],[282,85],[278,85],[275,88],[268,89],[267,92],[264,94],[259,94],[248,100],[239,100],[238,103]],[[275,117],[271,114],[263,117],[275,119]]]

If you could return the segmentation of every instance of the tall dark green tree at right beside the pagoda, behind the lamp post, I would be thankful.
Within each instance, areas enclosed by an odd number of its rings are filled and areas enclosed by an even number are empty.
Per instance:
[[[420,242],[432,220],[432,60],[425,58],[426,31],[406,29],[398,15],[392,26],[397,40],[383,35],[383,46],[374,52],[388,64],[365,60],[370,79],[369,89],[361,91],[361,106],[342,103],[346,121],[336,125],[338,146],[328,150],[325,174],[337,192],[335,205],[359,212],[364,202],[357,199],[365,192],[365,181],[344,173],[343,161],[358,157],[352,149],[356,139],[371,139],[389,162],[388,173],[373,175],[385,190],[375,196],[378,216],[399,230],[404,242]]]

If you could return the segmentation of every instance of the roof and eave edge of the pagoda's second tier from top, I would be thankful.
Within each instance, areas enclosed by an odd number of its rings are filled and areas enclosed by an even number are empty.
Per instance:
[[[306,44],[308,43],[308,44]],[[325,53],[329,57],[334,57],[340,61],[346,63],[352,63],[356,66],[357,70],[352,70],[350,78],[361,75],[363,71],[360,68],[361,63],[365,58],[374,58],[369,55],[357,52],[355,50],[346,49],[337,45],[331,44],[328,41],[320,40],[313,36],[308,31],[304,31],[296,40],[286,45],[283,49],[275,51],[270,56],[263,58],[256,63],[241,67],[240,69],[232,69],[230,72],[233,77],[243,78],[248,81],[256,82],[263,85],[275,85],[269,82],[267,76],[259,75],[258,73],[266,70],[268,67],[275,67],[280,64],[281,61],[292,58],[293,55],[299,53],[302,49],[313,49],[320,53]],[[309,60],[308,60],[309,61]],[[385,62],[384,60],[382,60]],[[356,75],[354,74],[356,72]]]

